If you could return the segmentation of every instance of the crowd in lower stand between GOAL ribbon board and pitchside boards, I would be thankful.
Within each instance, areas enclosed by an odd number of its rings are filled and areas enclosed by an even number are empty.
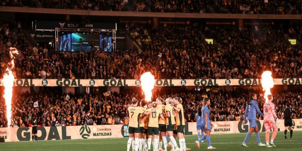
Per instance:
[[[237,89],[233,92],[186,90],[163,88],[154,92],[154,99],[157,96],[164,98],[181,97],[187,122],[194,122],[194,115],[197,112],[203,97],[211,100],[210,118],[211,121],[234,121],[243,120],[246,104],[250,100],[251,93],[262,91],[253,89]],[[40,91],[39,93],[22,93],[13,96],[12,105],[12,126],[28,126],[33,117],[37,118],[41,126],[59,125],[101,125],[101,124],[127,124],[127,107],[131,104],[132,97],[142,98],[131,92],[120,94],[113,93],[110,96],[100,94],[66,94],[59,95],[57,92]],[[301,92],[275,92],[274,103],[279,119],[282,119],[282,111],[286,103],[290,103],[293,111],[293,118],[302,118],[302,93]],[[153,100],[154,100],[153,99]],[[34,102],[38,101],[38,107]],[[262,101],[262,102],[261,102]],[[263,97],[259,97],[259,107],[263,110]],[[0,127],[6,126],[5,100],[0,99]],[[261,119],[260,115],[258,116]]]

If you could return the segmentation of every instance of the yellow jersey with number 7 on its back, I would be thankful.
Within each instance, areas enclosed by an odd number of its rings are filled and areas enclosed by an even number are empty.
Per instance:
[[[139,127],[139,115],[143,114],[144,111],[141,107],[128,107],[128,113],[129,113],[129,126],[138,128]]]

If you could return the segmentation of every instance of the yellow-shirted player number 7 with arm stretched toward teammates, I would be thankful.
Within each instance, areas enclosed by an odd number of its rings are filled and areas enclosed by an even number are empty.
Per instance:
[[[132,98],[132,106],[128,107],[128,115],[129,115],[129,139],[127,142],[127,151],[130,149],[131,142],[133,137],[135,138],[135,151],[138,151],[138,144],[139,144],[139,115],[144,114],[148,115],[152,112],[156,112],[156,110],[152,110],[149,112],[144,112],[141,107],[137,106],[138,100]],[[132,146],[133,147],[133,146]]]

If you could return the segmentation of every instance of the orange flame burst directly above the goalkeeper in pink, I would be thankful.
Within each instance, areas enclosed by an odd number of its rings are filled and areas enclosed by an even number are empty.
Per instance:
[[[274,87],[274,80],[272,77],[272,72],[271,71],[264,71],[261,75],[262,78],[262,88],[264,92],[264,99],[265,102],[268,102],[268,95],[271,95],[272,93],[270,92],[270,89]]]

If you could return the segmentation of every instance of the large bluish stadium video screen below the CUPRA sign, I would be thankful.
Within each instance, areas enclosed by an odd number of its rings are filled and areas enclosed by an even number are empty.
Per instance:
[[[80,52],[91,51],[94,48],[101,51],[112,52],[112,37],[102,34],[71,33],[59,36],[59,51]]]

